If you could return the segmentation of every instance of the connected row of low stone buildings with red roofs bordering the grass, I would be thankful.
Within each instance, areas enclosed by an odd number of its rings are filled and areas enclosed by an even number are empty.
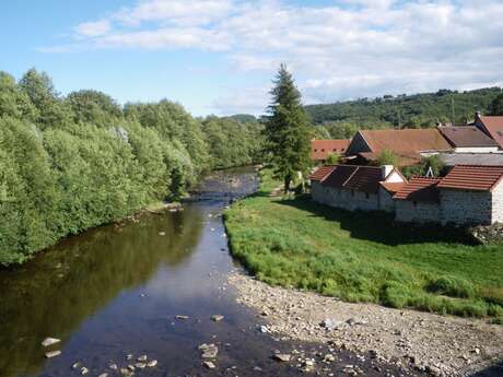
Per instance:
[[[407,181],[389,165],[326,165],[309,178],[313,200],[348,211],[385,211],[403,223],[503,222],[503,166],[457,165],[443,178]]]

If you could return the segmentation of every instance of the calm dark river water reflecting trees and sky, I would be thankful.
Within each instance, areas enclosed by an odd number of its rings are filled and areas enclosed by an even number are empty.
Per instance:
[[[143,354],[159,364],[137,369],[137,376],[301,374],[294,363],[272,361],[272,352],[324,346],[260,333],[260,319],[236,304],[225,284],[238,267],[220,214],[231,198],[256,187],[252,168],[214,173],[184,211],[92,229],[22,267],[0,270],[0,376],[78,376],[77,362],[87,376],[115,376],[110,364],[127,367]],[[213,315],[224,319],[213,321]],[[47,337],[61,342],[44,349]],[[213,370],[201,364],[201,343],[219,346]],[[50,350],[61,355],[45,358]],[[360,365],[367,376],[400,374],[343,351],[338,360],[320,374],[339,375],[346,364]]]

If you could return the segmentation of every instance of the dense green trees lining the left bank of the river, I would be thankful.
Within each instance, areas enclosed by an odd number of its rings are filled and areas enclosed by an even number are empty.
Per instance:
[[[44,72],[0,72],[0,264],[60,238],[178,200],[206,172],[260,160],[253,117],[194,118],[180,105],[61,96]]]

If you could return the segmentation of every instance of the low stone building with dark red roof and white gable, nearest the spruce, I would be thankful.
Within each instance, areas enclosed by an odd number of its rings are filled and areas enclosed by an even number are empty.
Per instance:
[[[349,211],[394,211],[393,195],[406,178],[394,166],[326,165],[311,176],[315,201]]]

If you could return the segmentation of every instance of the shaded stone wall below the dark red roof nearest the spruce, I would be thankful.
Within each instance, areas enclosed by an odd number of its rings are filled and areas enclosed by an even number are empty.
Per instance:
[[[377,193],[338,189],[323,186],[318,181],[313,181],[311,195],[318,203],[341,208],[348,211],[377,211],[379,209],[379,197]]]

